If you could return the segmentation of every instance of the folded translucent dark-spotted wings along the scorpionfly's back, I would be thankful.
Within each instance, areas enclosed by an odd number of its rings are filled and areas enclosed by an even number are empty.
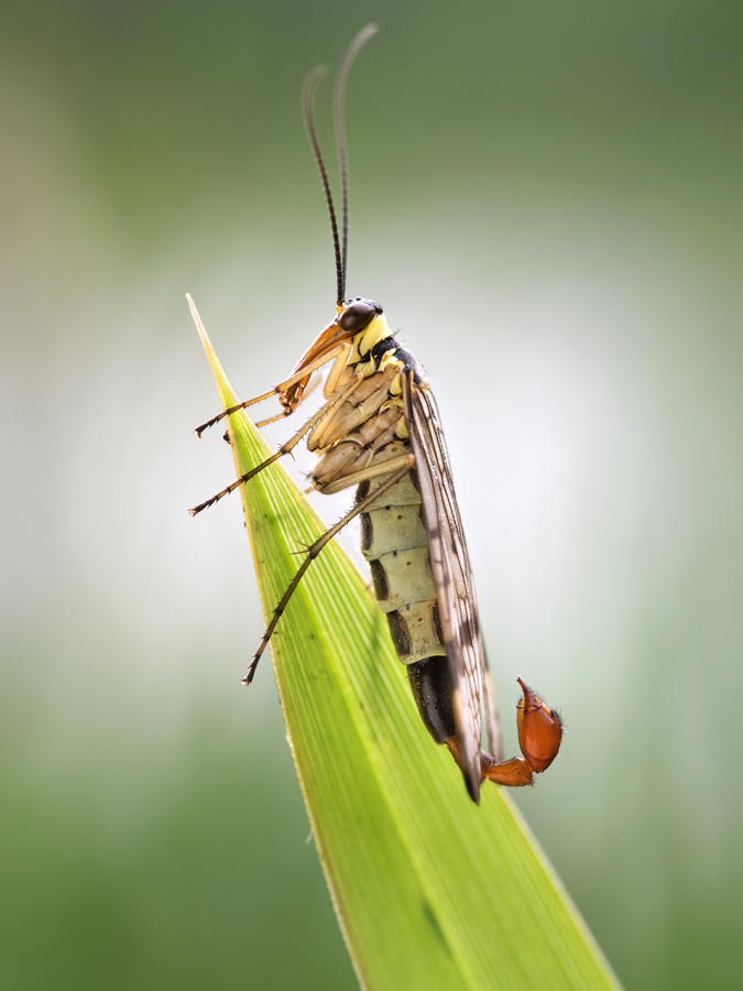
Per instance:
[[[449,658],[462,774],[472,798],[480,793],[480,704],[484,697],[489,745],[500,737],[488,663],[480,635],[472,569],[465,543],[449,455],[430,391],[405,377],[405,415],[423,500],[423,520],[444,645]]]

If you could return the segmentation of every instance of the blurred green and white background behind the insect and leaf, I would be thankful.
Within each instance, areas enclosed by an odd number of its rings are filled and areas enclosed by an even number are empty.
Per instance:
[[[185,512],[184,293],[245,395],[330,318],[299,92],[372,20],[348,291],[436,389],[510,749],[516,675],[566,718],[518,805],[627,989],[740,987],[743,8],[6,0],[9,991],[356,987],[240,507]]]

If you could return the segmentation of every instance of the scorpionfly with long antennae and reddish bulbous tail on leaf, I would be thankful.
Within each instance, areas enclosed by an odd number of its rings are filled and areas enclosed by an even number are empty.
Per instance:
[[[330,494],[357,487],[353,508],[310,547],[273,617],[243,678],[249,684],[292,593],[323,547],[354,516],[361,518],[361,551],[385,613],[397,656],[405,665],[420,718],[436,743],[446,744],[480,801],[485,778],[527,785],[557,756],[559,716],[518,678],[523,698],[517,726],[521,758],[504,761],[494,694],[478,621],[474,585],[457,508],[449,456],[438,410],[423,370],[395,340],[384,311],[363,296],[346,298],[348,167],[343,104],[351,63],[376,31],[369,25],[347,51],[335,90],[335,128],[341,177],[341,227],[314,121],[314,96],[324,68],[304,89],[304,116],[330,214],[336,254],[336,315],[273,389],[220,413],[201,433],[231,413],[277,396],[282,411],[259,426],[291,416],[314,372],[332,362],[324,405],[262,465],[190,510],[192,515],[250,482],[303,438],[319,460],[313,488]],[[188,297],[195,320],[198,313]],[[484,716],[490,753],[481,747]]]

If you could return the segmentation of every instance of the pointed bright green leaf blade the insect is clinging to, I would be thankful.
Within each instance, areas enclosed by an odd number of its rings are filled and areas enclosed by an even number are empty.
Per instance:
[[[199,334],[222,409],[233,406],[203,326]],[[244,412],[229,420],[242,475],[271,451]],[[296,552],[325,527],[278,465],[240,491],[269,616]],[[446,749],[434,745],[386,622],[335,541],[301,582],[271,650],[320,861],[363,988],[619,989],[507,796],[485,784],[476,807]],[[287,951],[291,944],[287,933]]]

